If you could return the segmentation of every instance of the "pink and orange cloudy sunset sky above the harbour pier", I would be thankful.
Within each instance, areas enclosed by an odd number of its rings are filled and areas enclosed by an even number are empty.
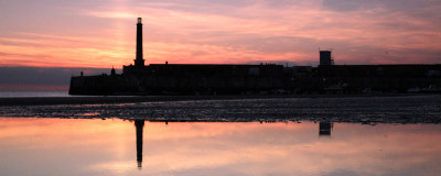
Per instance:
[[[439,0],[0,0],[0,67],[440,64]],[[0,79],[1,80],[1,79]],[[1,82],[0,82],[1,84]]]

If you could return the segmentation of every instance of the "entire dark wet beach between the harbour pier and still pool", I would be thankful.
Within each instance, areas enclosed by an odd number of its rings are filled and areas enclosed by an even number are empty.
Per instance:
[[[2,98],[0,117],[440,123],[441,95]]]

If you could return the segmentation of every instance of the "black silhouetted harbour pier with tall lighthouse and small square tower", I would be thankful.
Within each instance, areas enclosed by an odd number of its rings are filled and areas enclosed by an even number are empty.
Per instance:
[[[71,78],[69,95],[303,95],[441,92],[441,64],[335,65],[320,51],[320,65],[144,65],[142,20],[137,22],[135,64],[122,74]]]

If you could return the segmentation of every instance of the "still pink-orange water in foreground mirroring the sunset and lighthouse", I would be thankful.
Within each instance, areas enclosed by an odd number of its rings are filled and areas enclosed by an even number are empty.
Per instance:
[[[440,124],[0,118],[0,175],[439,175]]]

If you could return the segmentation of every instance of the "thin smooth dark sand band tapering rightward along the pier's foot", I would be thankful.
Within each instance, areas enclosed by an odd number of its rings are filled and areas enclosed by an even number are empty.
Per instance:
[[[190,100],[236,100],[236,99],[283,99],[283,98],[352,98],[352,97],[405,97],[430,96],[421,94],[378,94],[378,95],[254,95],[254,96],[132,96],[132,97],[17,97],[0,98],[0,107],[6,106],[51,106],[51,105],[100,105],[135,103]]]

